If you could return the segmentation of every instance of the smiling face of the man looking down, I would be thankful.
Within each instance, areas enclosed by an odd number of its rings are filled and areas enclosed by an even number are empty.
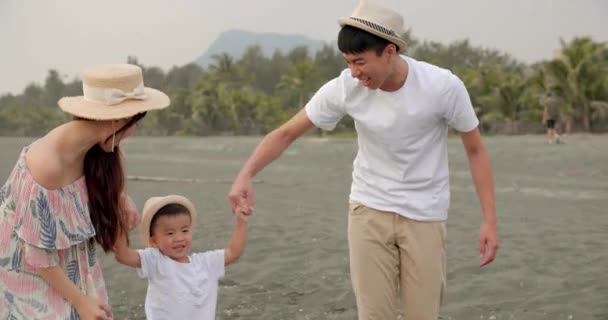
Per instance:
[[[350,69],[353,78],[359,79],[359,83],[369,89],[378,89],[384,84],[392,72],[390,55],[387,46],[381,54],[375,49],[362,53],[343,53],[344,60]]]

